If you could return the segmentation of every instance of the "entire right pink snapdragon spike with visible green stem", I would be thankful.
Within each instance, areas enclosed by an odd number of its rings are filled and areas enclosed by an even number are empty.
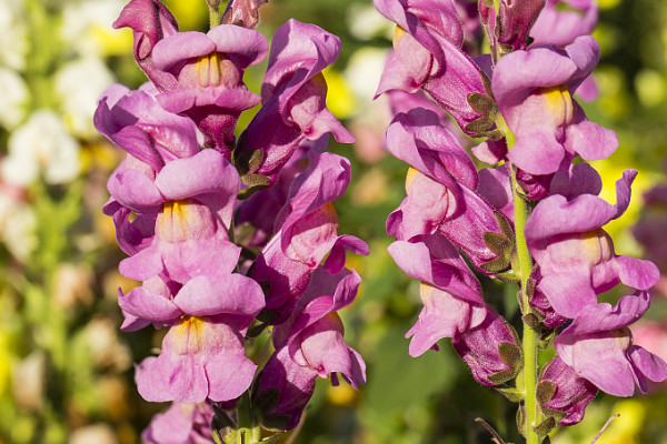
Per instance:
[[[667,364],[634,344],[628,329],[648,309],[658,270],[617,255],[604,231],[627,209],[637,173],[624,173],[613,205],[598,196],[598,173],[574,162],[608,158],[618,145],[573,99],[585,84],[583,95],[595,95],[589,74],[599,47],[585,34],[597,8],[571,2],[584,9],[579,14],[556,3],[502,0],[494,8],[480,0],[490,54],[478,54],[464,44],[475,36],[454,1],[375,0],[397,24],[378,94],[391,91],[395,102],[414,95],[414,108],[398,112],[386,134],[388,150],[410,167],[407,198],[387,220],[396,236],[389,253],[421,281],[410,354],[450,337],[479,383],[521,402],[521,433],[540,436],[557,422],[581,421],[598,390],[629,396],[635,385],[646,391],[647,380],[667,377]],[[472,152],[495,168],[477,171],[432,102],[462,132],[486,139]],[[469,264],[484,279],[520,283],[522,342],[482,297]],[[598,303],[620,283],[635,293],[615,306]],[[526,367],[535,362],[531,335],[555,337],[557,353],[532,393],[504,385],[521,367],[518,384],[527,384],[527,372],[537,379],[537,369]]]

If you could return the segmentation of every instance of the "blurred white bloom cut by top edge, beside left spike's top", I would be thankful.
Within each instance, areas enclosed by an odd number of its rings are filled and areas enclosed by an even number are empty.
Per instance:
[[[113,40],[121,32],[111,24],[126,3],[127,0],[69,1],[62,8],[60,37],[80,54],[106,54],[109,44],[106,40]]]

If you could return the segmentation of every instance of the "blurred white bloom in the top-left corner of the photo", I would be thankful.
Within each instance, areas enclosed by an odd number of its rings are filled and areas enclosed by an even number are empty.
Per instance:
[[[26,68],[28,52],[27,11],[21,0],[0,1],[0,63],[14,69]]]

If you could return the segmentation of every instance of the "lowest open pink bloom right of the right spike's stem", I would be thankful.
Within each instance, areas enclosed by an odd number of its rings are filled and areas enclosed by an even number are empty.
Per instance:
[[[667,363],[633,343],[628,325],[648,310],[647,291],[623,296],[616,306],[608,303],[587,305],[554,341],[563,362],[615,396],[631,396],[635,385],[643,393],[647,380],[667,379]]]

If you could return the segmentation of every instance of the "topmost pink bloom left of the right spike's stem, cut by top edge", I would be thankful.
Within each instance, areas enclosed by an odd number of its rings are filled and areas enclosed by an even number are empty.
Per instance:
[[[376,97],[420,88],[470,135],[494,125],[496,105],[486,77],[461,51],[464,31],[451,0],[408,2],[375,0],[376,9],[397,23]]]

